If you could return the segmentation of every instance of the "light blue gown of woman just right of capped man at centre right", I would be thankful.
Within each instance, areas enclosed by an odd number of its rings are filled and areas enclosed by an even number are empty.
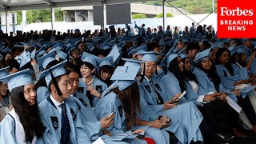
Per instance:
[[[171,98],[174,97],[174,95],[183,92],[179,86],[178,79],[170,71],[168,71],[167,74],[164,77],[162,77],[161,83],[162,83],[162,86],[165,87],[166,99],[170,100]],[[179,103],[184,103],[184,102],[187,102],[186,98],[182,97],[179,100]]]

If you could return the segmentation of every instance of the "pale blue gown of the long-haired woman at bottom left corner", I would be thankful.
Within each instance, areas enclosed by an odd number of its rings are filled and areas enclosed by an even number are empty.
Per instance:
[[[15,137],[15,120],[10,114],[6,114],[6,117],[0,122],[0,142],[2,144],[17,143]],[[30,142],[27,142],[28,144]],[[37,138],[38,144],[42,142],[42,138]]]

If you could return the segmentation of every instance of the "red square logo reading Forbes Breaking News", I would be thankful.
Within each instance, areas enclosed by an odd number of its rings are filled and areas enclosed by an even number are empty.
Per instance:
[[[218,0],[218,38],[256,38],[256,1]]]

